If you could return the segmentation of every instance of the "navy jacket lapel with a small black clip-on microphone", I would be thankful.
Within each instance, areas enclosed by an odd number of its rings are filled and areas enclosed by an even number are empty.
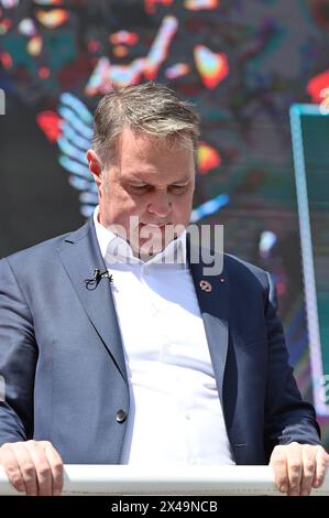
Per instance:
[[[58,253],[88,319],[127,380],[123,347],[110,281],[103,278],[92,290],[88,290],[85,283],[86,279],[92,278],[96,268],[101,272],[107,269],[92,220],[68,235],[58,248]]]

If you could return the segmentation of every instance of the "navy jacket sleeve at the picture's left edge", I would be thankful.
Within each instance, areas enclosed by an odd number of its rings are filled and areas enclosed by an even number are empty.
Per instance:
[[[33,319],[7,259],[0,261],[0,445],[33,436],[37,346]]]

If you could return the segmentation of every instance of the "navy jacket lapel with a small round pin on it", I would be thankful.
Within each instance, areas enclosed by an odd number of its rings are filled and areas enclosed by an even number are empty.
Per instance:
[[[229,278],[224,271],[219,276],[205,276],[204,268],[209,265],[205,265],[201,253],[190,247],[193,245],[187,241],[187,258],[204,320],[217,389],[222,402],[223,373],[229,339]],[[199,257],[199,261],[191,262],[191,257]],[[211,291],[201,288],[205,287],[202,281],[210,284]]]

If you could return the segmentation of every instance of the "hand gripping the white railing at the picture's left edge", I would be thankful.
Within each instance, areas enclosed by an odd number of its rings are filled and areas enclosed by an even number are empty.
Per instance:
[[[48,441],[6,443],[0,464],[15,489],[29,496],[57,496],[63,489],[63,461]]]

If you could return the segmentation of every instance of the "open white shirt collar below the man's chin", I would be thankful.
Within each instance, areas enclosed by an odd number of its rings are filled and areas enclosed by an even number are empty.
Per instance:
[[[186,266],[186,230],[171,241],[164,250],[143,261],[133,255],[128,241],[103,227],[98,220],[99,206],[94,212],[94,224],[100,252],[107,263],[124,262],[140,265],[182,265]]]

